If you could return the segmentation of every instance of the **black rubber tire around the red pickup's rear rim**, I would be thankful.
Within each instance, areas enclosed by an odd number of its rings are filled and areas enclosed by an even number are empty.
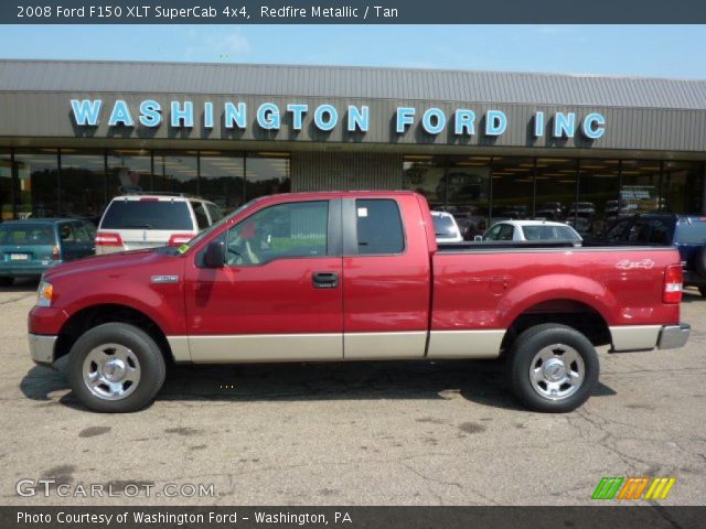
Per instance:
[[[535,389],[530,371],[536,355],[545,347],[557,344],[559,347],[556,352],[559,358],[563,347],[571,348],[580,356],[582,381],[576,389],[569,388],[573,392],[566,397],[553,400],[539,392],[541,389],[548,391],[546,382],[544,388]],[[575,328],[557,323],[535,325],[520,334],[509,350],[507,361],[511,386],[517,399],[531,410],[548,413],[565,413],[586,402],[598,384],[600,371],[598,355],[590,341]],[[573,363],[571,366],[579,370],[580,366],[577,363]]]

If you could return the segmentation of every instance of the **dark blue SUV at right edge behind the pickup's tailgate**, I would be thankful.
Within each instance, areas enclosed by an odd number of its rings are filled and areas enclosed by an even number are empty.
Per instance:
[[[706,216],[650,213],[620,218],[584,246],[675,246],[684,268],[684,285],[706,296]]]

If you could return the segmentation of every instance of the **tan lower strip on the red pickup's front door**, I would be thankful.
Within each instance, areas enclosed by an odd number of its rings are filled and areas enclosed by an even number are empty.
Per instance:
[[[341,334],[190,336],[195,364],[323,361],[343,359]]]

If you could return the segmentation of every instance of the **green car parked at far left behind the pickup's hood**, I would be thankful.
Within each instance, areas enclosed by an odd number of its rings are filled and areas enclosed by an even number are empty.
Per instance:
[[[96,230],[87,220],[32,218],[0,224],[0,287],[14,278],[39,278],[44,270],[95,253]]]

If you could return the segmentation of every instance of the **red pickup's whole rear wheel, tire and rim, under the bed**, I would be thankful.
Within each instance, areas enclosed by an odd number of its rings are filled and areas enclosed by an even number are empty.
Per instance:
[[[571,411],[588,400],[598,384],[596,348],[566,325],[527,328],[515,338],[509,355],[513,391],[534,411]]]

